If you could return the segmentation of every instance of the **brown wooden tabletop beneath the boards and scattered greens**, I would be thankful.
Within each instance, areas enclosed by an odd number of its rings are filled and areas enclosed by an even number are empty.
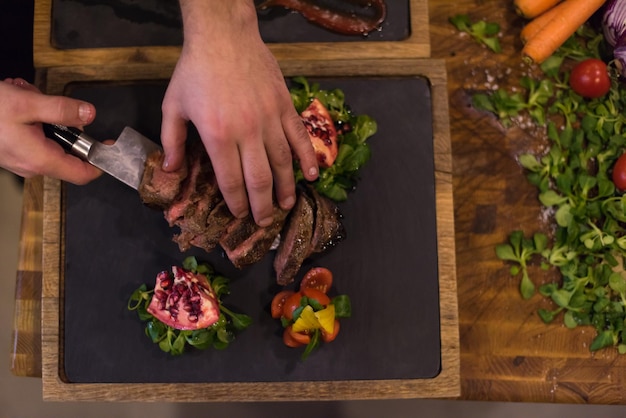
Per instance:
[[[569,330],[559,321],[544,324],[536,311],[548,302],[539,295],[523,301],[518,281],[495,256],[494,247],[510,231],[546,228],[536,191],[516,161],[542,139],[520,128],[503,129],[470,106],[473,91],[505,88],[525,71],[518,40],[523,21],[511,3],[431,0],[429,5],[431,56],[445,59],[448,71],[461,398],[623,404],[626,357],[614,350],[590,353],[592,329]],[[503,52],[491,53],[459,34],[448,23],[457,13],[498,22]],[[26,182],[15,312],[15,329],[21,334],[13,353],[17,375],[41,370],[41,195],[41,179]]]

